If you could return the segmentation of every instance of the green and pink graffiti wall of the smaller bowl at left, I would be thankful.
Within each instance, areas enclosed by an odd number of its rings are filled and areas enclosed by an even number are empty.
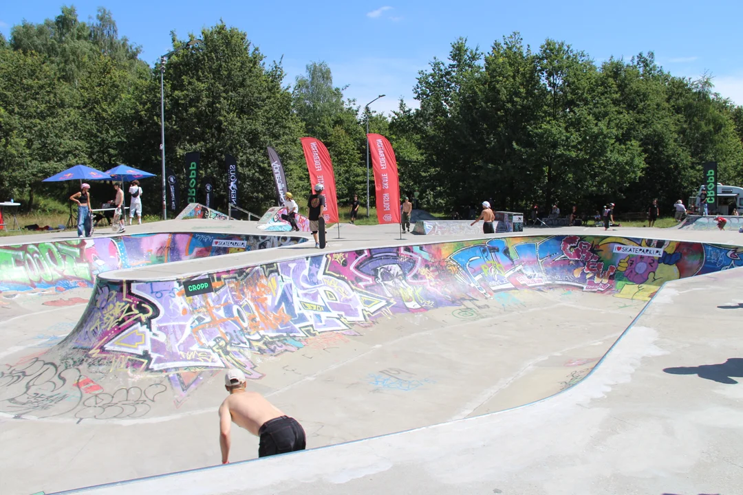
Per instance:
[[[176,232],[0,246],[0,292],[92,287],[96,275],[111,270],[305,241],[278,235]]]

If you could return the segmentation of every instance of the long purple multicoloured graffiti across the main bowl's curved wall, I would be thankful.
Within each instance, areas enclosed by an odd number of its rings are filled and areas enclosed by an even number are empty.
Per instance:
[[[472,312],[475,301],[518,306],[514,291],[551,287],[646,301],[666,281],[740,266],[743,247],[560,235],[363,249],[230,269],[209,274],[212,292],[191,297],[184,292],[188,279],[99,279],[80,323],[54,349],[59,362],[45,373],[49,393],[61,381],[53,376],[70,379],[65,368],[92,378],[120,371],[151,376],[170,384],[180,406],[224,368],[259,379],[262,360],[315,344],[327,347],[328,338],[353,339],[392,315],[435,308]],[[0,373],[0,410],[38,416],[65,409],[53,396],[31,407],[33,390],[19,388],[25,376],[27,367]],[[13,407],[3,401],[3,379],[20,393]],[[404,390],[425,383],[370,379],[375,387]],[[156,391],[152,401],[171,396]],[[105,409],[108,397],[98,404],[74,390],[70,395],[76,414],[110,417],[106,410],[80,410],[85,404]],[[146,414],[146,389],[135,396],[137,414]]]

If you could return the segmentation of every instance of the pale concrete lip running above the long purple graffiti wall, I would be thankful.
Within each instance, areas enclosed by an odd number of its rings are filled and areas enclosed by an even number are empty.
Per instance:
[[[374,226],[376,227],[376,226]],[[671,227],[671,229],[674,229]],[[543,233],[542,233],[543,232]],[[357,247],[348,247],[344,249],[322,249],[318,250],[317,252],[314,252],[311,255],[308,254],[298,254],[298,255],[287,255],[282,256],[280,258],[276,258],[273,260],[250,260],[250,258],[253,257],[253,253],[256,252],[266,252],[266,251],[278,251],[278,250],[285,250],[285,249],[296,249],[296,246],[299,246],[301,244],[310,243],[311,244],[311,237],[309,235],[305,236],[276,236],[276,237],[303,237],[307,239],[305,242],[299,242],[296,244],[293,244],[291,246],[276,246],[275,248],[267,248],[267,249],[259,249],[256,251],[245,251],[245,252],[236,252],[236,253],[230,253],[228,255],[221,255],[218,258],[227,259],[225,257],[233,257],[233,258],[240,258],[239,262],[228,267],[221,267],[219,269],[204,269],[204,270],[198,270],[198,271],[190,271],[189,268],[191,268],[191,264],[199,263],[200,261],[203,262],[204,258],[195,258],[192,260],[180,260],[180,261],[172,261],[171,263],[166,263],[166,266],[171,266],[174,268],[178,268],[181,266],[186,266],[186,270],[180,271],[177,273],[172,274],[163,274],[158,273],[157,275],[152,276],[142,276],[137,278],[123,278],[119,274],[121,272],[146,272],[147,269],[152,268],[152,266],[138,266],[134,268],[122,268],[117,270],[111,270],[108,272],[103,272],[100,275],[97,275],[98,278],[101,278],[106,281],[116,282],[116,281],[130,281],[130,282],[152,282],[152,281],[178,281],[182,279],[188,279],[188,278],[194,278],[201,275],[204,275],[207,272],[222,272],[225,270],[233,270],[233,269],[241,269],[241,268],[254,268],[256,266],[260,266],[266,263],[283,263],[285,261],[293,261],[293,260],[302,260],[305,258],[310,258],[313,256],[319,256],[319,255],[326,255],[326,254],[335,254],[335,253],[344,253],[344,252],[354,252],[358,251],[360,249],[386,249],[386,248],[395,248],[395,247],[404,247],[404,246],[430,246],[435,244],[446,244],[446,243],[455,243],[455,242],[476,242],[476,241],[482,241],[482,240],[491,240],[491,239],[503,239],[507,237],[553,237],[555,235],[575,235],[578,237],[623,237],[623,238],[636,238],[636,239],[651,239],[651,240],[663,240],[668,242],[688,242],[688,243],[700,243],[700,244],[710,244],[713,242],[710,242],[709,240],[688,240],[688,239],[678,239],[678,238],[672,238],[672,237],[649,237],[649,236],[641,236],[641,235],[622,235],[619,233],[621,231],[617,231],[617,233],[608,234],[606,232],[597,232],[597,233],[583,233],[579,234],[577,232],[544,232],[544,231],[538,231],[538,232],[502,232],[501,234],[495,234],[490,235],[489,237],[457,237],[452,236],[455,238],[447,238],[447,239],[435,239],[433,237],[438,236],[422,236],[420,240],[424,240],[423,242],[418,241],[419,237],[414,237],[412,239],[398,239],[397,243],[386,243],[379,246],[357,246]],[[160,233],[167,233],[167,232],[160,232]],[[193,232],[188,232],[189,234],[192,234]],[[205,232],[207,234],[220,234],[221,232]],[[628,232],[629,234],[629,232]],[[244,235],[254,235],[254,234],[244,234]],[[443,236],[441,236],[443,237]],[[448,236],[447,236],[448,237]],[[428,240],[430,238],[430,240]],[[415,242],[412,242],[415,240]],[[729,243],[714,243],[719,246],[727,246],[730,248],[734,247],[742,247],[743,246],[743,239],[741,245],[735,245],[735,244],[729,244]],[[305,248],[307,249],[307,248]],[[314,249],[314,248],[313,248]],[[246,259],[242,259],[246,258]],[[230,258],[232,259],[232,258]],[[158,265],[159,266],[159,265]]]

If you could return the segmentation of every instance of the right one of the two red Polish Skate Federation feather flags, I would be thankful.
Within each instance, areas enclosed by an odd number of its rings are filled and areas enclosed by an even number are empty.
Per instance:
[[[400,183],[395,151],[386,137],[366,134],[374,166],[374,189],[377,191],[379,223],[400,223]]]

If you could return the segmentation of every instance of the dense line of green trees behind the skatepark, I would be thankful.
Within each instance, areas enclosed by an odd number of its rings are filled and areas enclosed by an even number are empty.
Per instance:
[[[267,146],[282,158],[290,190],[308,193],[303,136],[327,145],[339,203],[354,194],[366,203],[367,117],[395,148],[403,193],[420,191],[435,212],[482,200],[591,214],[613,201],[631,212],[658,198],[669,213],[698,189],[707,161],[718,162],[722,183],[743,184],[743,108],[716,94],[710,77],[672,76],[652,53],[597,64],[553,39],[533,50],[512,33],[482,51],[460,38],[447,60],[418,74],[420,108],[400,99],[386,117],[346,99],[324,62],[285,85],[281,62],[267,62],[224,22],[186,39],[172,33],[172,47],[163,73],[166,163],[185,183],[184,155],[201,151],[200,175],[217,178],[218,209],[227,205],[225,154],[238,163],[241,206],[262,213],[275,204]],[[33,208],[35,194],[63,197],[68,186],[40,181],[77,163],[125,163],[160,177],[160,65],[140,51],[103,8],[83,22],[62,7],[54,19],[0,35],[1,198]],[[143,188],[145,209],[158,214],[159,180]]]

